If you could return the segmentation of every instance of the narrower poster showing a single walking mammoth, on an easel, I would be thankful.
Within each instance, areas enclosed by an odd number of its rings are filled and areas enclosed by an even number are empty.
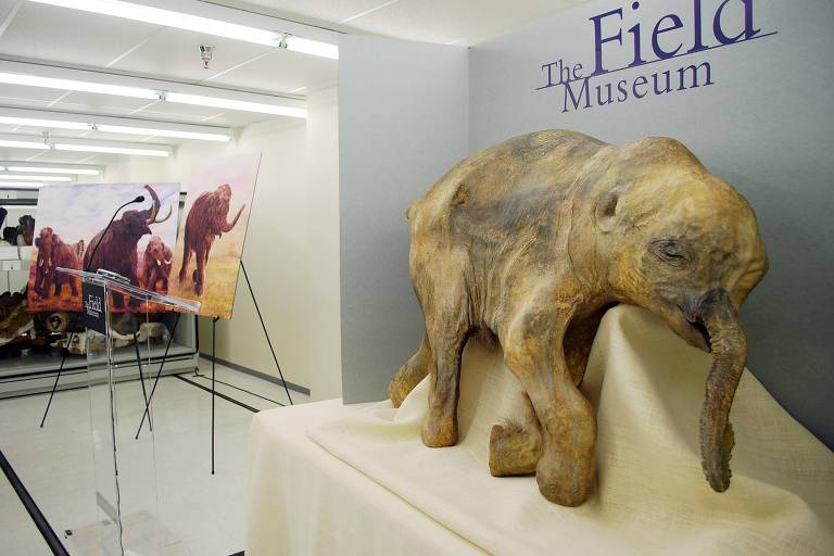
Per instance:
[[[261,153],[194,167],[179,227],[169,293],[202,304],[200,314],[231,317]]]

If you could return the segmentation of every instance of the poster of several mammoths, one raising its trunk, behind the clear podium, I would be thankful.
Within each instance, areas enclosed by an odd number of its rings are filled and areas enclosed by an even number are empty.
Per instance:
[[[121,205],[141,197],[118,211]],[[179,184],[77,184],[38,194],[30,311],[81,311],[78,278],[55,268],[118,273],[135,286],[167,293],[177,238]],[[105,232],[106,230],[106,232]],[[115,311],[144,311],[114,294]]]

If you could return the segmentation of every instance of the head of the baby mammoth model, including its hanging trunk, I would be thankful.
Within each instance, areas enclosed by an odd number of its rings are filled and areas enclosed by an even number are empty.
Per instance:
[[[700,450],[707,480],[723,492],[734,444],[730,407],[747,357],[738,309],[768,268],[756,215],[672,139],[620,148],[602,184],[594,220],[608,283],[712,354]]]

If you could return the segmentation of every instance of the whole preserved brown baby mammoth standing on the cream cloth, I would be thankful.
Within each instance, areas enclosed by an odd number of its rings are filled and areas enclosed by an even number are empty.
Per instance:
[[[630,303],[711,352],[700,451],[709,484],[726,490],[728,417],[747,356],[737,311],[768,258],[747,201],[683,144],[516,137],[458,163],[406,216],[426,336],[389,394],[399,406],[430,375],[427,446],[457,442],[460,355],[486,330],[527,395],[523,422],[492,429],[492,475],[534,471],[544,497],[582,504],[596,420],[578,386],[603,314]]]

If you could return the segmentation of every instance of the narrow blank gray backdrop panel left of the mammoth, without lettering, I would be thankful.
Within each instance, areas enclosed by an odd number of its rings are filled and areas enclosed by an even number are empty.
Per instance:
[[[386,397],[422,338],[405,208],[467,155],[463,48],[339,41],[342,395]]]

